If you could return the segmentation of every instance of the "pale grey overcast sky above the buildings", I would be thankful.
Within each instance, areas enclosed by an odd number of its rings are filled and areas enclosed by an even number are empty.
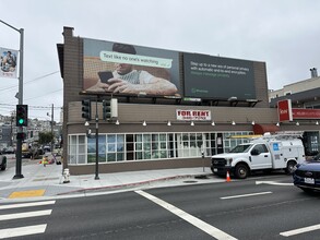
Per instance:
[[[14,2],[14,4],[13,4]],[[320,68],[318,0],[15,0],[0,20],[24,28],[24,96],[29,118],[59,121],[63,82],[57,44],[74,36],[266,63],[268,85],[310,79]],[[20,49],[20,34],[0,23],[0,47]],[[319,71],[319,70],[318,70]],[[17,99],[17,79],[0,77],[0,115]]]

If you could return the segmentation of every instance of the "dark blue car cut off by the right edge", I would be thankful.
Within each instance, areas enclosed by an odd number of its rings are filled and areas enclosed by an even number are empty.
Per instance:
[[[305,192],[320,190],[320,154],[311,160],[307,160],[296,166],[293,173],[294,184]]]

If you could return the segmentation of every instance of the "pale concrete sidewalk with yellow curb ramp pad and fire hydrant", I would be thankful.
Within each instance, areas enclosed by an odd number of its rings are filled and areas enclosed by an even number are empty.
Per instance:
[[[15,167],[0,171],[0,201],[7,199],[57,197],[66,195],[88,195],[100,192],[118,192],[155,187],[169,187],[190,183],[223,182],[213,177],[210,168],[178,168],[116,173],[72,176],[63,183],[62,165],[47,165],[31,160],[22,166],[22,179],[13,179]]]

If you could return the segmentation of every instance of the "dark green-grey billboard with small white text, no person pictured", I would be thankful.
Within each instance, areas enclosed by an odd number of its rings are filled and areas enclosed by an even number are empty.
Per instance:
[[[183,53],[185,97],[254,99],[253,62]]]

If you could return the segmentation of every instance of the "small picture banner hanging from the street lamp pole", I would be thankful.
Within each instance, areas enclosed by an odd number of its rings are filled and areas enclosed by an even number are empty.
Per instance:
[[[16,79],[16,50],[0,48],[0,77]]]

